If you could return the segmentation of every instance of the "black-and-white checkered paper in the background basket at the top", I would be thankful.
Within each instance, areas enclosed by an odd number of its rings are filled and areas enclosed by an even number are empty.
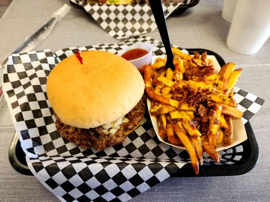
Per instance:
[[[87,0],[70,0],[70,2],[89,13],[104,31],[117,39],[148,33],[157,28],[148,4],[99,5],[89,4]],[[165,18],[182,4],[163,4]]]

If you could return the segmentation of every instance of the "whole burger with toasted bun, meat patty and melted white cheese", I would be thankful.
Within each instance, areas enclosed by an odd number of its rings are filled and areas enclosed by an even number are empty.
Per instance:
[[[64,59],[47,80],[57,131],[70,142],[98,150],[123,142],[136,129],[145,112],[143,94],[137,68],[104,51]]]

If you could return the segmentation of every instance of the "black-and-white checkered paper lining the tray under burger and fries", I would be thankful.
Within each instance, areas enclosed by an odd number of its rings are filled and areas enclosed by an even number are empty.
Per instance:
[[[54,53],[33,51],[10,57],[3,74],[3,89],[27,164],[60,200],[126,201],[170,177],[189,161],[185,150],[158,140],[147,113],[123,144],[102,151],[76,146],[56,131],[46,94],[47,77],[55,64],[78,49],[117,53],[137,42],[154,44],[156,55],[165,53],[161,42],[135,37],[118,44],[71,47]],[[263,100],[239,88],[236,91],[240,110],[248,120],[260,109]],[[205,162],[213,162],[207,157]]]

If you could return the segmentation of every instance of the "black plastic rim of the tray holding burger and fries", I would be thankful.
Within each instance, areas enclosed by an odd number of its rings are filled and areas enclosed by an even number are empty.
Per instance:
[[[189,52],[189,54],[192,54],[193,52],[198,52],[199,54],[202,54],[203,52],[207,52],[208,55],[213,55],[216,57],[220,66],[225,64],[224,60],[218,54],[208,49],[186,48],[186,50]],[[244,159],[244,161],[242,161],[241,163],[238,163],[237,165],[236,164],[230,164],[230,165],[218,164],[216,166],[203,165],[203,166],[200,166],[200,172],[198,175],[194,173],[191,164],[187,163],[185,166],[179,169],[176,173],[174,173],[171,177],[233,176],[233,175],[242,175],[251,171],[256,166],[258,158],[259,158],[259,146],[257,144],[254,132],[252,130],[252,127],[249,121],[245,124],[245,129],[246,129],[248,138],[247,140],[245,140],[244,142],[240,144],[243,144],[246,147],[249,147],[249,152],[245,152],[245,153],[243,152],[242,159]],[[12,138],[10,147],[9,147],[10,164],[13,167],[13,169],[16,170],[20,174],[33,175],[30,169],[24,164],[22,164],[16,156],[16,146],[18,146],[17,145],[18,143],[19,143],[19,138],[17,136],[17,133],[15,132]],[[222,172],[220,172],[220,170],[222,170]]]

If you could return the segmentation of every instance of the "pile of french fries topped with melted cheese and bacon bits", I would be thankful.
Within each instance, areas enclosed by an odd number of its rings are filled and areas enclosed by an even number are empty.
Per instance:
[[[196,174],[203,165],[203,151],[219,163],[217,144],[233,142],[232,119],[243,113],[236,107],[234,86],[242,69],[227,63],[217,73],[207,59],[186,55],[172,48],[175,70],[165,69],[166,60],[144,65],[145,91],[151,101],[150,114],[157,116],[159,135],[174,145],[185,146]]]

